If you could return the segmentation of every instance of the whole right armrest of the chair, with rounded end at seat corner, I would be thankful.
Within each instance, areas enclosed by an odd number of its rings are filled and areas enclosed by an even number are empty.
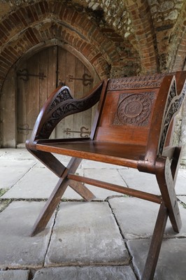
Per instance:
[[[139,171],[155,172],[157,156],[164,155],[166,139],[169,139],[170,132],[173,129],[173,118],[178,113],[185,97],[185,78],[185,71],[168,73],[159,85],[146,152],[138,162]]]

